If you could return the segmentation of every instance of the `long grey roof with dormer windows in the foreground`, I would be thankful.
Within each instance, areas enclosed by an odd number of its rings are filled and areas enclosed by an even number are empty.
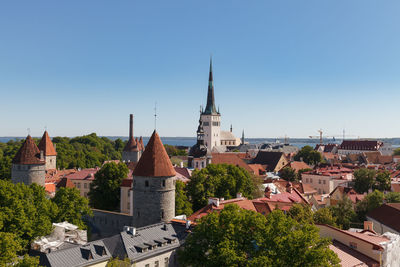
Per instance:
[[[40,265],[52,267],[90,266],[111,257],[139,262],[180,247],[187,235],[183,224],[158,223],[137,228],[135,236],[123,231],[86,245],[66,243],[62,249],[47,254],[31,251],[30,255],[40,256]]]

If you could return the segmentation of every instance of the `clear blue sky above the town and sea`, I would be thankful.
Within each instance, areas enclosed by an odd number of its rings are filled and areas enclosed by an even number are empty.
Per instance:
[[[400,1],[1,1],[0,136],[399,137]]]

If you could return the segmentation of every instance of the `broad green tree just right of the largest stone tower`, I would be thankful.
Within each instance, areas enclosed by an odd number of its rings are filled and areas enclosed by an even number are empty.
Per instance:
[[[187,192],[196,211],[207,205],[209,197],[231,199],[237,193],[251,197],[254,187],[255,179],[245,169],[228,164],[210,164],[193,171]]]

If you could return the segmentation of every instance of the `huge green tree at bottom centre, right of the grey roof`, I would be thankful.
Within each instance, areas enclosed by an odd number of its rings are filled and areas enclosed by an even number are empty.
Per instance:
[[[185,266],[339,266],[312,224],[275,210],[264,217],[237,205],[203,217],[178,251]]]

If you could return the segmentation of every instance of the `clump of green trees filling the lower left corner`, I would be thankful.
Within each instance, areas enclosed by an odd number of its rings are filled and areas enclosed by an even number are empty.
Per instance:
[[[50,234],[52,223],[67,220],[84,228],[82,216],[90,215],[90,209],[87,200],[76,193],[76,189],[60,189],[50,200],[42,186],[0,180],[0,242],[4,241],[0,255],[5,257],[0,262],[11,260],[13,253],[22,255],[36,237]],[[30,266],[32,262],[26,257],[18,264]]]

